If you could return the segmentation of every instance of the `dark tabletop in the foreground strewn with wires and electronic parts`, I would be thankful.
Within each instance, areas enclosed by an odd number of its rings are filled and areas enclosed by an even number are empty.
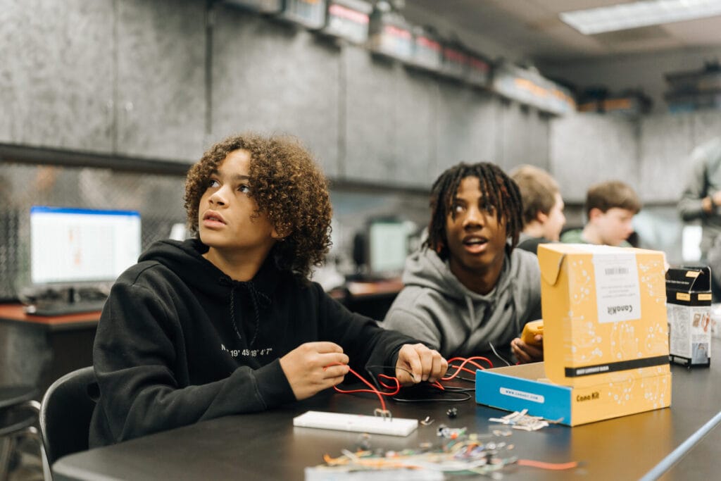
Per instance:
[[[715,353],[721,353],[715,342]],[[508,480],[637,480],[675,456],[676,464],[668,479],[707,480],[709,473],[721,472],[717,452],[720,433],[712,430],[707,438],[684,453],[674,452],[684,441],[715,417],[721,408],[721,364],[710,369],[687,370],[673,366],[672,406],[637,415],[568,428],[552,425],[541,431],[513,431],[503,441],[513,443],[513,454],[523,459],[546,462],[583,462],[566,471],[544,471],[530,467],[507,467]],[[322,463],[322,455],[339,456],[344,448],[355,449],[358,433],[293,428],[292,418],[309,409],[370,414],[378,407],[376,397],[327,392],[311,400],[270,412],[236,415],[209,420],[185,428],[138,438],[115,446],[66,456],[53,466],[56,481],[61,480],[302,480],[304,467]],[[446,415],[448,407],[458,407],[456,419]],[[506,412],[462,403],[391,402],[394,416],[423,419],[435,423],[420,426],[402,438],[371,435],[371,446],[384,449],[417,447],[424,441],[437,442],[438,425],[466,427],[469,432],[488,433],[497,428],[488,418]],[[684,458],[686,451],[690,452]],[[694,456],[704,469],[691,469]],[[665,470],[664,469],[664,470]],[[459,477],[459,479],[461,479]],[[648,479],[648,478],[647,478]],[[653,478],[652,478],[653,479]]]

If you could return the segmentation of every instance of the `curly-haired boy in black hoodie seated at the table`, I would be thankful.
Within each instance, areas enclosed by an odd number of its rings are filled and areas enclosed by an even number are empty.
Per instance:
[[[303,400],[350,366],[402,384],[446,361],[348,312],[307,281],[327,252],[327,182],[290,138],[236,136],[187,175],[194,239],[156,242],[120,275],[100,319],[90,446]]]

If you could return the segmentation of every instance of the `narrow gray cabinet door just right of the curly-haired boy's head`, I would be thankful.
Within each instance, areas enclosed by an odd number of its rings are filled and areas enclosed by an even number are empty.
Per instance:
[[[367,50],[342,50],[345,78],[345,162],[343,175],[355,180],[394,182],[397,151],[395,102],[401,68]]]

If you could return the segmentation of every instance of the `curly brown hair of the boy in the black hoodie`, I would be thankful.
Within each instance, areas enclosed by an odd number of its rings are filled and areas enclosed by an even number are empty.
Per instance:
[[[269,255],[280,270],[307,277],[320,265],[330,247],[332,208],[328,182],[313,157],[297,138],[243,133],[205,151],[185,180],[187,224],[198,237],[198,208],[211,174],[232,151],[250,154],[250,197],[261,213],[286,237]]]

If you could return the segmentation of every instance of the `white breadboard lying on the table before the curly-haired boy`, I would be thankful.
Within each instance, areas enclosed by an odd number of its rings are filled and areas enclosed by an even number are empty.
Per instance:
[[[344,414],[342,412],[308,411],[293,418],[293,425],[302,428],[335,429],[336,431],[358,431],[359,433],[408,436],[418,428],[418,420],[381,418],[381,416]]]

